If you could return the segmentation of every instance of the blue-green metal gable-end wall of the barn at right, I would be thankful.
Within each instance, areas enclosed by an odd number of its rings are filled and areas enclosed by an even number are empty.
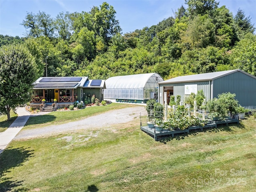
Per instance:
[[[213,80],[213,97],[230,92],[242,106],[256,106],[256,79],[240,71]]]

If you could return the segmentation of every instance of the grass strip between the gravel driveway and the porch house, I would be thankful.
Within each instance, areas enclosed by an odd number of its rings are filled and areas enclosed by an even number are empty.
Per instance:
[[[44,116],[34,116],[30,117],[24,126],[23,130],[39,128],[42,126],[52,125],[52,124],[63,124],[76,120],[80,120],[82,118],[86,118],[92,115],[100,114],[107,112],[109,110],[121,109],[126,107],[134,107],[135,105],[131,104],[119,104],[112,103],[106,106],[93,106],[86,107],[81,110],[70,110],[70,111],[54,111]]]

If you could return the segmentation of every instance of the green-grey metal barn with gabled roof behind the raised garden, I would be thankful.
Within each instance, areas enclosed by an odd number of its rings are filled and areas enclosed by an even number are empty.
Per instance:
[[[170,96],[197,94],[203,90],[207,100],[218,94],[235,93],[242,106],[256,106],[256,77],[240,69],[188,76],[179,76],[159,82],[159,102],[169,104]]]

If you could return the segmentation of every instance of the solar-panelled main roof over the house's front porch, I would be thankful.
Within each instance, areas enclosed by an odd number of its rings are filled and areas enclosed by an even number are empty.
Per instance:
[[[40,77],[34,82],[34,89],[73,89],[82,87],[88,77]]]

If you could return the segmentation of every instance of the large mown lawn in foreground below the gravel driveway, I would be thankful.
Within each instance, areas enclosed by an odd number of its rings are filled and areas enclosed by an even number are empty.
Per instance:
[[[145,117],[143,117],[145,120]],[[112,129],[12,141],[3,191],[255,191],[256,122],[154,141],[139,118]]]

